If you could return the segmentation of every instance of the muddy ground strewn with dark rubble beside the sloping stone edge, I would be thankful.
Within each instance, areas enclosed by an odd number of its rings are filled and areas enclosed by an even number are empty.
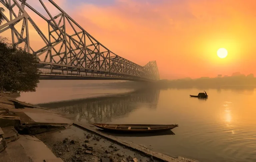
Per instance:
[[[158,161],[73,125],[66,130],[38,134],[36,137],[65,162]]]

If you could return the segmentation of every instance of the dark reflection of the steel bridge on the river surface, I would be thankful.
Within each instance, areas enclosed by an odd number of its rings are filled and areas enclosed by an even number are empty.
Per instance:
[[[60,111],[79,122],[108,122],[123,118],[141,106],[155,109],[159,93],[158,89],[140,90],[110,97],[45,103],[39,106]]]

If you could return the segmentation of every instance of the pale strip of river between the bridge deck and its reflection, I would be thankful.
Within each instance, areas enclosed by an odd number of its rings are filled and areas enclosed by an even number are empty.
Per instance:
[[[119,84],[123,82],[108,80],[41,80],[36,92],[21,93],[17,99],[39,104],[120,94],[134,90],[132,85],[120,87]]]

